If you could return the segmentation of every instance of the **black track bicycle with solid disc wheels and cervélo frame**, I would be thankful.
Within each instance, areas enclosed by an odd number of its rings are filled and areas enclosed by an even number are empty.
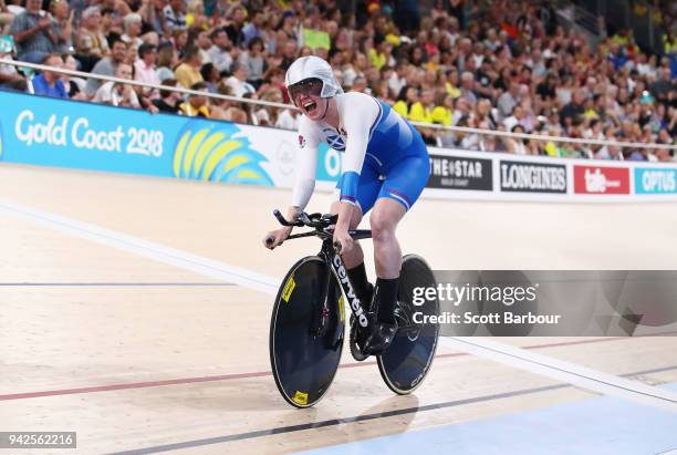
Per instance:
[[[361,347],[361,333],[371,330],[375,320],[369,304],[354,294],[340,256],[333,245],[332,227],[336,215],[300,214],[295,221],[273,215],[282,226],[308,227],[285,240],[317,237],[322,248],[315,256],[299,260],[289,270],[273,306],[270,323],[270,363],[278,390],[295,407],[310,407],[329,391],[338,369],[345,331],[345,303],[351,308],[350,348],[357,361],[368,355]],[[371,230],[351,230],[353,239],[372,237]],[[272,239],[270,239],[272,241]],[[433,364],[439,325],[424,323],[426,316],[439,313],[438,300],[413,302],[414,289],[436,287],[426,261],[416,255],[403,258],[395,319],[398,324],[393,343],[376,356],[381,376],[395,393],[414,392]],[[420,314],[416,314],[420,313]]]

